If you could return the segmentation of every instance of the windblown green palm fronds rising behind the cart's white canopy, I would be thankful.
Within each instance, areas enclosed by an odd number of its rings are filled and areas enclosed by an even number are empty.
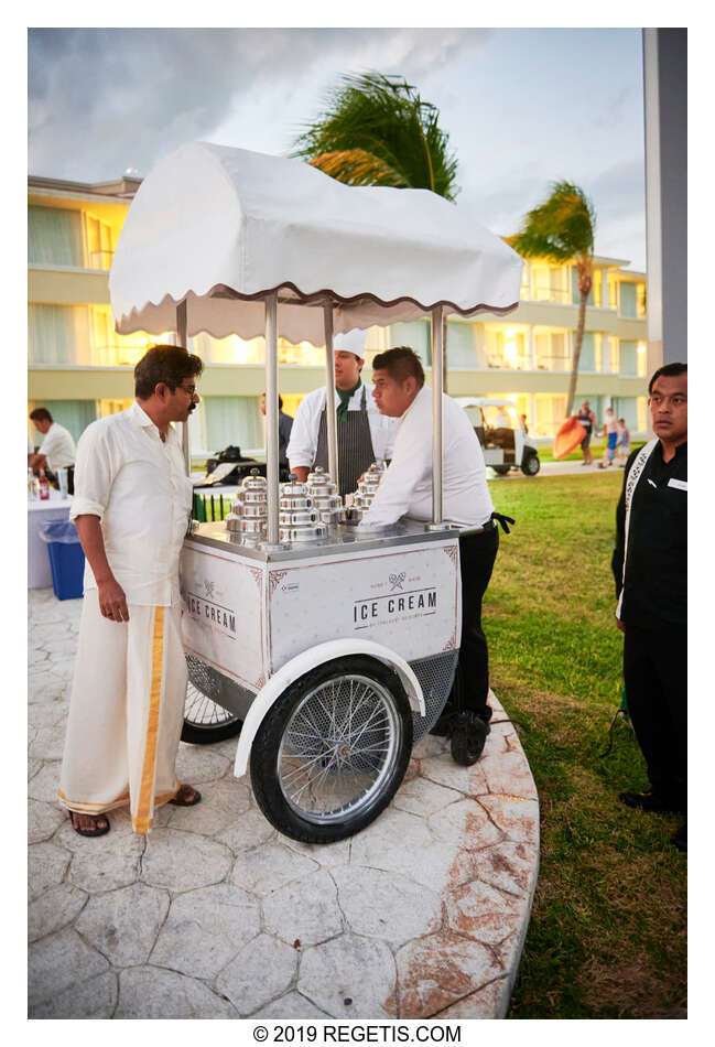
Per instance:
[[[291,155],[347,185],[426,188],[454,201],[457,159],[438,119],[440,110],[403,77],[344,76],[329,93],[326,111],[305,126]],[[446,392],[446,353],[443,384]]]

